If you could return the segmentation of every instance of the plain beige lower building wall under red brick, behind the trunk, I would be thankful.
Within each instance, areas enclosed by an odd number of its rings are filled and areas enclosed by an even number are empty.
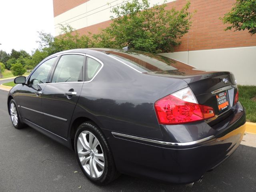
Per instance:
[[[162,54],[200,69],[232,72],[238,84],[256,85],[256,46]]]

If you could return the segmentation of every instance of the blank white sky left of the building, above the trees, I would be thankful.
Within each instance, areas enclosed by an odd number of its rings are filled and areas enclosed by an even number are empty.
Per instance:
[[[0,0],[0,50],[31,54],[41,30],[54,36],[52,0]]]

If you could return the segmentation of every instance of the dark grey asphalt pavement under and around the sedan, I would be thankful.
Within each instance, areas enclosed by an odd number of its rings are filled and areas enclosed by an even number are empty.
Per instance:
[[[108,186],[96,186],[80,171],[73,151],[30,127],[22,130],[12,127],[7,112],[7,94],[0,90],[0,192],[256,191],[256,148],[245,145],[240,145],[215,170],[206,172],[202,182],[192,188],[126,175]]]

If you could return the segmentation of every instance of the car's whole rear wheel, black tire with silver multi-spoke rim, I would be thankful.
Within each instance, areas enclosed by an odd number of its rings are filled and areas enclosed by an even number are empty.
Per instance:
[[[95,184],[108,184],[119,175],[106,138],[92,122],[82,123],[78,127],[75,151],[80,168]]]

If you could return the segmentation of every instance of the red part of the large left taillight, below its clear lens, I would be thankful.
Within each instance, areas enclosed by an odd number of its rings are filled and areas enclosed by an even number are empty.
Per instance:
[[[184,124],[214,117],[214,109],[168,95],[154,104],[160,124]]]

